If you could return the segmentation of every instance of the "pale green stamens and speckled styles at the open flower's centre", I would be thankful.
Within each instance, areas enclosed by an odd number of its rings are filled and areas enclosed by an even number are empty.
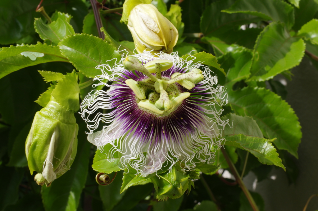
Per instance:
[[[190,92],[182,92],[176,85],[180,84],[190,90],[195,84],[203,80],[202,71],[193,69],[187,73],[176,72],[171,78],[162,78],[162,71],[170,69],[173,62],[170,60],[157,59],[146,65],[139,63],[138,59],[128,56],[124,67],[130,71],[140,71],[149,78],[144,81],[127,79],[126,84],[133,90],[136,97],[140,99],[138,105],[157,114],[173,110],[179,103],[190,96]],[[156,76],[152,73],[156,73]]]

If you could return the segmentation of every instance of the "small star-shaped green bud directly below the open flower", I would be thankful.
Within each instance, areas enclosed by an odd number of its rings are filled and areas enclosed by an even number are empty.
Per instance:
[[[179,198],[188,189],[189,175],[182,174],[175,166],[171,172],[159,174],[151,178],[157,192],[157,199],[169,197],[171,199]]]

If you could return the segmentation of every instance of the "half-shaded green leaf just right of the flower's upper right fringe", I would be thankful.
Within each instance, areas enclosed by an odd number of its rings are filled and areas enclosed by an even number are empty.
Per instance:
[[[218,83],[224,85],[227,89],[249,77],[252,65],[252,52],[249,50],[228,52],[218,57],[218,63],[226,72],[226,77],[218,74]]]

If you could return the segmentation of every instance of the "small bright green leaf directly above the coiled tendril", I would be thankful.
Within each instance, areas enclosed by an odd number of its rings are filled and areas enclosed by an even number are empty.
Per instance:
[[[94,171],[110,174],[112,172],[122,170],[118,152],[112,154],[112,159],[110,158],[109,150],[111,148],[112,146],[110,144],[107,144],[103,146],[102,149],[96,150],[92,165]]]

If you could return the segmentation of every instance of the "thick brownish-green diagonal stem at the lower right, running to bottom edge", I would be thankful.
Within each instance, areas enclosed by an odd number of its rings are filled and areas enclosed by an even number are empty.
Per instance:
[[[239,186],[242,188],[242,191],[244,192],[247,200],[250,202],[251,206],[252,206],[252,209],[254,211],[259,211],[259,208],[257,207],[252,195],[250,194],[250,192],[247,190],[243,180],[241,179],[241,177],[239,176],[239,173],[238,171],[236,170],[234,164],[232,163],[229,155],[226,153],[225,149],[223,147],[221,147],[221,151],[225,157],[225,160],[227,162],[227,164],[229,165],[230,169],[231,169],[231,172],[232,174],[234,175],[236,181],[239,183]]]

